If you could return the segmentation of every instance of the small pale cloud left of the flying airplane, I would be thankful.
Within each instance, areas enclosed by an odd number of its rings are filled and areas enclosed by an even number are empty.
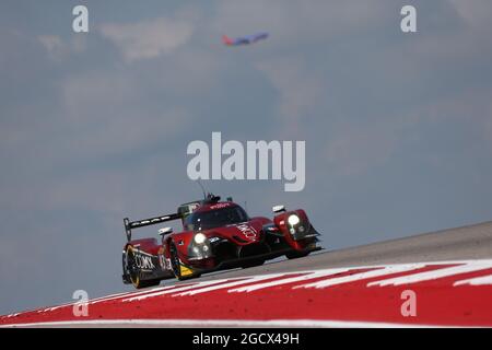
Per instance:
[[[103,37],[118,47],[127,62],[168,55],[188,43],[192,33],[189,21],[168,18],[101,27]]]

